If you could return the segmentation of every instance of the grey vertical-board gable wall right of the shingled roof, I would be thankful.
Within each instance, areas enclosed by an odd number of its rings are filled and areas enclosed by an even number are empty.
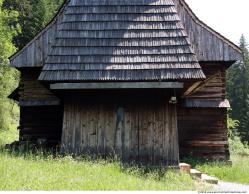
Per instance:
[[[201,22],[184,0],[174,0],[199,61],[236,61],[241,51],[229,40]]]

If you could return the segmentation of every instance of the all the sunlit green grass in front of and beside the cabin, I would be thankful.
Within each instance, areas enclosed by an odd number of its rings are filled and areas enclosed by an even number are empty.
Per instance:
[[[3,145],[18,138],[16,131],[0,131],[0,190],[177,190],[208,191],[176,170],[124,167],[118,160],[61,157],[49,153],[11,152]],[[249,156],[233,155],[233,165],[187,159],[196,169],[223,181],[249,184]]]

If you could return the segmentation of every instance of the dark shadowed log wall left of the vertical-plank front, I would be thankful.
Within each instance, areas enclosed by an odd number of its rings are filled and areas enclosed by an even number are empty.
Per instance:
[[[60,100],[37,81],[40,69],[21,72],[19,87],[20,140],[44,139],[58,144],[61,139],[63,108]]]

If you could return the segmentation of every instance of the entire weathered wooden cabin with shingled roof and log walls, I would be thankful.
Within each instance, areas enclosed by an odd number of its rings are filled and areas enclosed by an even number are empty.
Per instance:
[[[11,57],[20,141],[148,165],[227,160],[226,70],[240,59],[184,0],[67,0]]]

